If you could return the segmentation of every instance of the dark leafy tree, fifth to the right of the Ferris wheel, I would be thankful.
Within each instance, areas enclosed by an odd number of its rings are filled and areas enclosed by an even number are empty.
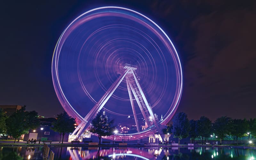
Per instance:
[[[232,126],[233,128],[231,129],[230,135],[233,140],[236,140],[236,144],[238,145],[238,137],[247,136],[246,133],[249,129],[249,124],[246,119],[234,119]]]

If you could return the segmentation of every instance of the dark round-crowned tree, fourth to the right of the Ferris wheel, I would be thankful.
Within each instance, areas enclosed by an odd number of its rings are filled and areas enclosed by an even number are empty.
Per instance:
[[[222,116],[220,118],[217,118],[216,121],[213,124],[213,129],[215,132],[215,135],[218,135],[220,138],[220,144],[222,144],[222,140],[226,135],[228,135],[233,128],[232,119],[227,116]]]

